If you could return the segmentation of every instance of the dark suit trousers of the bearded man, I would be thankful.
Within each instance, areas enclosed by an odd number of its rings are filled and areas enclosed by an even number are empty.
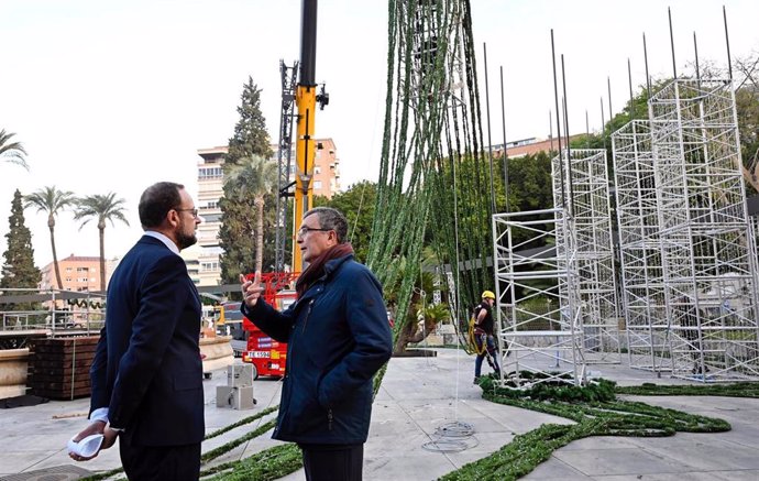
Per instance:
[[[136,446],[119,435],[119,453],[130,481],[197,481],[200,442],[183,446]]]

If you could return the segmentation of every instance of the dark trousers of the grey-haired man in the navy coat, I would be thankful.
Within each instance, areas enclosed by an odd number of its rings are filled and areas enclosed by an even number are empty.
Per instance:
[[[306,481],[361,481],[364,445],[299,445]]]

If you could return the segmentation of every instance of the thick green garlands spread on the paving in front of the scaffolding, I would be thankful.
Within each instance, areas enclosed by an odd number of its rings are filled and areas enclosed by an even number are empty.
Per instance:
[[[483,389],[483,398],[487,401],[561,416],[575,424],[543,424],[537,429],[516,436],[512,442],[487,458],[465,464],[443,475],[441,480],[516,480],[549,459],[554,450],[573,440],[590,436],[660,437],[672,436],[678,431],[723,433],[730,429],[730,425],[722,419],[616,400],[614,393],[619,389],[615,389],[615,383],[606,380],[600,380],[584,387],[542,383],[528,390],[514,390],[499,387],[494,378],[485,376],[481,379],[480,386]],[[759,386],[755,385],[751,389],[750,385],[746,385],[740,392],[755,393],[757,387]],[[659,395],[667,392],[666,390],[654,392],[652,389],[648,391]],[[719,392],[719,390],[701,390],[698,394],[711,395],[712,392]],[[679,393],[674,392],[674,394]]]

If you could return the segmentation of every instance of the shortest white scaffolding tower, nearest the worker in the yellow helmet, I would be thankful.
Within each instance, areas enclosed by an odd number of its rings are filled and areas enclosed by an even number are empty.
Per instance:
[[[505,385],[580,385],[585,379],[571,223],[561,208],[493,216],[495,310]]]

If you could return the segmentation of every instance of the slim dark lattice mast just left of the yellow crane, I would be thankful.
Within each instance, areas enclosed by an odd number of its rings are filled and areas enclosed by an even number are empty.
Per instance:
[[[293,196],[289,188],[294,185],[290,182],[290,162],[293,158],[293,119],[295,118],[295,88],[298,63],[292,67],[279,61],[279,73],[282,75],[282,110],[279,111],[279,144],[277,149],[277,162],[279,176],[277,177],[277,228],[274,247],[274,270],[285,272],[285,255],[287,250],[287,211],[289,203],[287,199]]]

